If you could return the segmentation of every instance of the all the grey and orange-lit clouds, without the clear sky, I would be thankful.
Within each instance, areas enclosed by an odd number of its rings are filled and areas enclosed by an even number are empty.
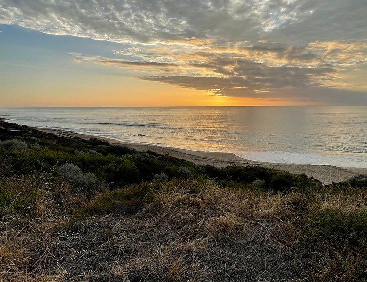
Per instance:
[[[113,58],[71,54],[79,62],[215,95],[327,104],[367,105],[367,85],[352,89],[366,14],[360,0],[0,0],[0,23],[123,43]]]

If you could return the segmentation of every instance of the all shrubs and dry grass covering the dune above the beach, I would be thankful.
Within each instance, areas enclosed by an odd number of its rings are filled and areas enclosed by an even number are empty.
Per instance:
[[[367,280],[367,176],[324,185],[23,127],[0,135],[0,281]]]

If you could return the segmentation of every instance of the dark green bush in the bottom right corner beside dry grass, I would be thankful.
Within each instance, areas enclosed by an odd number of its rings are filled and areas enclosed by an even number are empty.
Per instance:
[[[367,213],[323,209],[312,212],[294,248],[311,280],[363,281],[367,251]],[[313,276],[315,278],[313,279]]]

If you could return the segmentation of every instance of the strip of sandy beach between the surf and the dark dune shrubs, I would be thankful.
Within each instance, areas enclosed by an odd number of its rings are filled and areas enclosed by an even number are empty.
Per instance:
[[[73,131],[50,129],[50,128],[39,128],[33,127],[39,131],[46,133],[61,133],[67,134],[72,137],[79,137],[82,139],[98,138],[106,140],[114,145],[127,146],[131,149],[138,151],[153,151],[158,154],[167,154],[172,157],[185,159],[196,164],[212,165],[216,167],[226,167],[231,165],[258,165],[272,169],[285,170],[291,173],[301,174],[304,173],[309,177],[314,177],[320,181],[327,183],[340,182],[346,180],[357,174],[367,174],[367,168],[342,168],[331,165],[301,165],[301,164],[286,164],[286,163],[266,163],[252,161],[241,158],[233,153],[226,152],[209,152],[209,151],[195,151],[180,149],[174,147],[157,146],[153,144],[144,143],[130,143],[120,140],[115,140],[106,137],[98,137],[87,134],[80,134]]]

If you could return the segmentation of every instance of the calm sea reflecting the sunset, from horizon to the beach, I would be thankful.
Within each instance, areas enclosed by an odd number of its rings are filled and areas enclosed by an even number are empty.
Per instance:
[[[257,161],[367,167],[367,107],[3,108],[0,117]]]

